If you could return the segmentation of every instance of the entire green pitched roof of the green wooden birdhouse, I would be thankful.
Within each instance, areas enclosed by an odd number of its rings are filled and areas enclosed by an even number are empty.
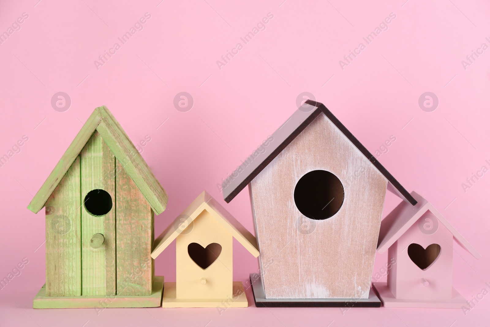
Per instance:
[[[73,161],[96,130],[115,157],[123,164],[124,170],[138,186],[153,211],[156,214],[162,213],[167,206],[167,193],[149,169],[145,159],[136,150],[121,125],[105,106],[96,108],[90,115],[82,129],[76,134],[72,144],[70,144],[51,174],[49,174],[48,179],[46,179],[29,203],[27,209],[37,213],[44,207],[59,181],[72,166]]]

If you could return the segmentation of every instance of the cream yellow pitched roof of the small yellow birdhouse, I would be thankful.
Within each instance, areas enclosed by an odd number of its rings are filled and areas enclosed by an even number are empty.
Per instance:
[[[188,218],[182,224],[185,224],[186,228],[189,226],[199,214],[206,210],[221,224],[238,242],[240,242],[248,252],[253,256],[259,256],[259,247],[257,246],[257,239],[240,224],[225,208],[221,206],[218,201],[213,199],[206,191],[203,191],[199,196],[192,201],[191,204],[179,215],[172,224],[160,234],[155,240],[155,246],[151,252],[151,257],[155,259],[160,253],[165,250],[169,244],[183,231],[184,229],[176,228],[181,224],[180,218],[182,215]]]

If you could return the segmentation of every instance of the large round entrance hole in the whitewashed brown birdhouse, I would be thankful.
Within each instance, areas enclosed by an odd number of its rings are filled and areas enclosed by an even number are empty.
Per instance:
[[[326,170],[314,170],[299,178],[294,203],[308,218],[323,220],[335,215],[343,203],[340,179]]]

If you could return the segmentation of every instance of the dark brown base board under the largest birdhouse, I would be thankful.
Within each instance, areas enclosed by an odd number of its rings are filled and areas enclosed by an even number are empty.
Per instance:
[[[259,274],[250,274],[253,299],[258,308],[265,307],[360,307],[379,308],[381,301],[372,288],[369,290],[368,299],[266,299],[262,278]]]

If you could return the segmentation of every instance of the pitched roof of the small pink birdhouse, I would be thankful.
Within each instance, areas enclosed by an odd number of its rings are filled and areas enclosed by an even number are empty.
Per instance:
[[[417,205],[411,206],[402,201],[381,221],[377,249],[379,253],[386,252],[408,228],[414,225],[429,210],[453,234],[456,242],[467,252],[471,253],[477,259],[481,257],[480,253],[466,241],[429,201],[422,198],[415,191],[411,194],[417,200]]]

